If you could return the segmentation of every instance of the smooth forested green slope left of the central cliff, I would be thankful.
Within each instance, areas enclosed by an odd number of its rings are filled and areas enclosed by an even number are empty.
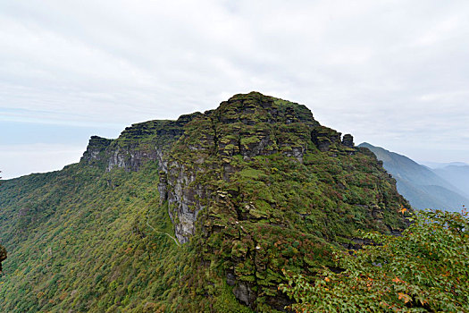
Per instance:
[[[157,166],[83,164],[1,186],[3,312],[154,312],[177,289],[181,250],[155,187]],[[148,217],[147,217],[148,216]],[[171,303],[170,303],[171,304]]]

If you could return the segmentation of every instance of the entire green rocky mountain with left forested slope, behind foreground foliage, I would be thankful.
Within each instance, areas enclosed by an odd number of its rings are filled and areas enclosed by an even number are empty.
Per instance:
[[[359,229],[401,232],[409,207],[352,135],[258,92],[94,136],[80,164],[0,192],[12,312],[21,290],[23,311],[284,311],[282,270],[340,270],[331,247],[355,247]]]

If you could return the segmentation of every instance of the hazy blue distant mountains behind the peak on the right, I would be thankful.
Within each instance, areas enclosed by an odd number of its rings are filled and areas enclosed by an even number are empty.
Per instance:
[[[412,207],[460,211],[463,205],[469,206],[469,165],[434,164],[440,167],[431,168],[366,142],[359,147],[369,148],[382,161]]]

